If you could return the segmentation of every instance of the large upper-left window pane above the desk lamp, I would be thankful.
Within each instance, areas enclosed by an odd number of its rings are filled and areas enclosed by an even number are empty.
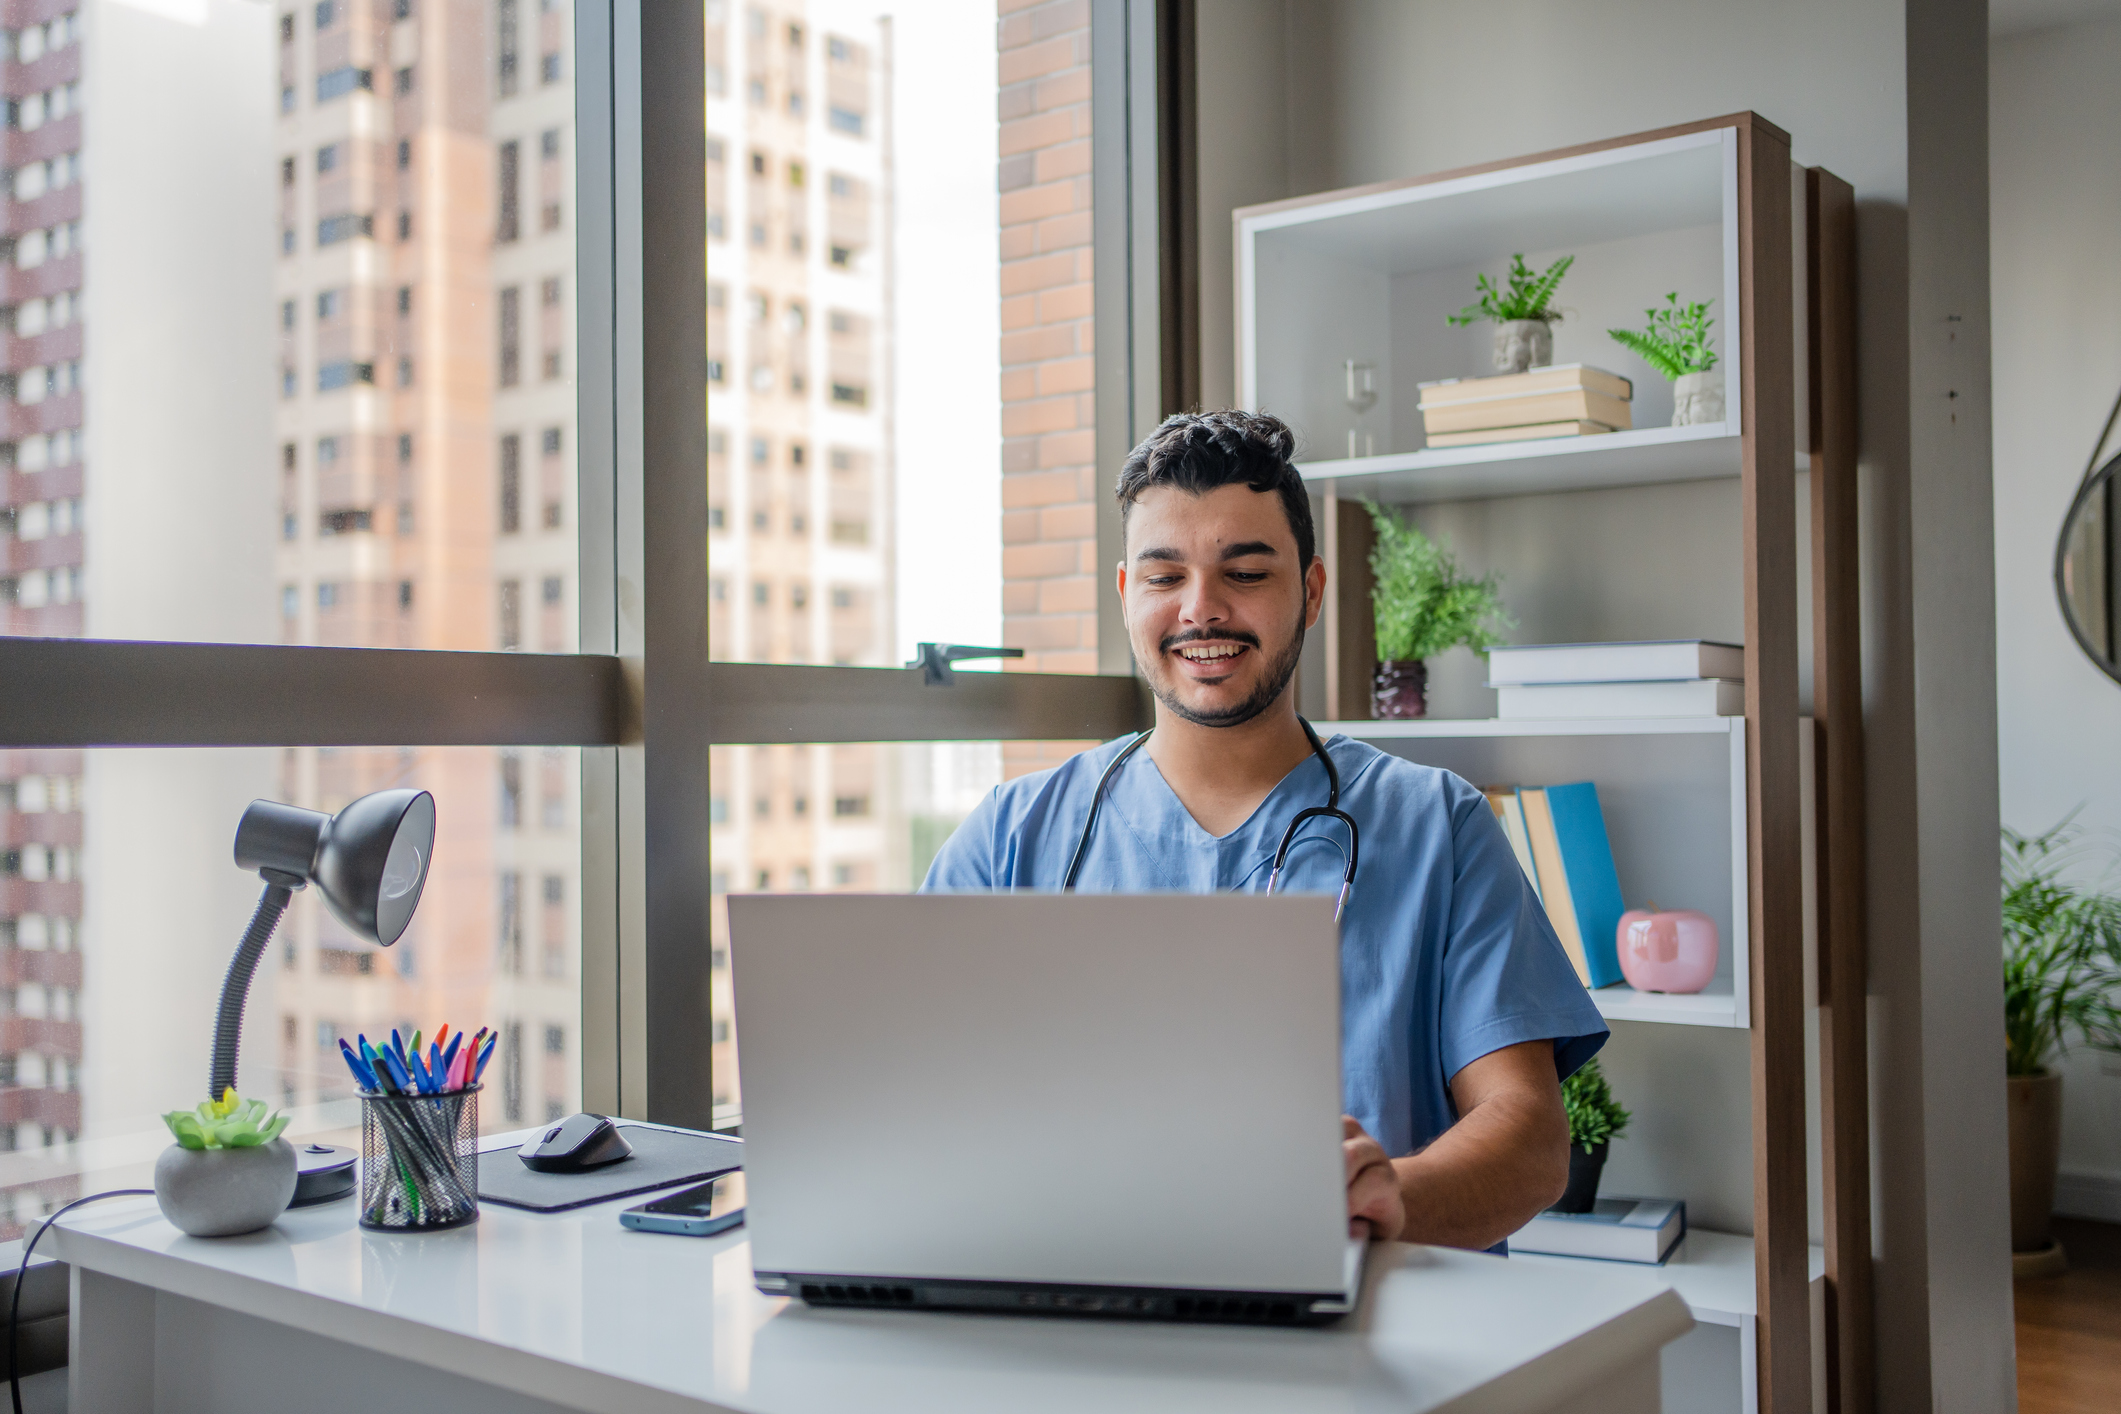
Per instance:
[[[0,632],[571,651],[571,2],[4,38]]]

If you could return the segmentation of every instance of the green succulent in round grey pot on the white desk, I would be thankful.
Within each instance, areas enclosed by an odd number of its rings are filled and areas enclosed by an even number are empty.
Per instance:
[[[161,1117],[174,1145],[155,1160],[155,1202],[178,1232],[229,1238],[257,1232],[295,1198],[295,1149],[280,1132],[288,1115],[227,1090],[197,1109]]]

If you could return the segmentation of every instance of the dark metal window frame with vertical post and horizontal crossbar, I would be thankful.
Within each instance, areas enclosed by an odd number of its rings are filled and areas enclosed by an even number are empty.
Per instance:
[[[1128,134],[1143,104],[1126,95],[1143,76],[1154,93],[1154,4],[1094,15],[1099,131]],[[581,651],[0,638],[0,746],[579,746],[583,1104],[711,1128],[708,746],[1111,738],[1150,704],[1105,623],[1103,676],[927,687],[918,670],[708,661],[706,134],[679,121],[706,102],[704,4],[579,4],[575,55]],[[1141,125],[1118,153],[1099,144],[1099,195],[1114,174],[1126,191],[1124,216],[1099,208],[1101,269],[1107,242],[1130,257],[1156,235]],[[1128,339],[1116,377],[1101,341],[1101,460],[1133,441],[1156,320],[1130,310],[1143,288],[1154,310],[1154,246],[1111,265]],[[1099,530],[1116,547],[1118,513]]]

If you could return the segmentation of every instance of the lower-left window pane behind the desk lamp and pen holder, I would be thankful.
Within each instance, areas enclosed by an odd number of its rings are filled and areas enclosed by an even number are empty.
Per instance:
[[[448,748],[0,750],[0,1240],[68,1198],[142,1183],[159,1115],[206,1096],[214,1003],[259,897],[244,808],[437,801],[435,856],[392,948],[295,895],[250,986],[238,1088],[291,1136],[356,1145],[339,1037],[501,1041],[484,1130],[581,1107],[581,753]]]

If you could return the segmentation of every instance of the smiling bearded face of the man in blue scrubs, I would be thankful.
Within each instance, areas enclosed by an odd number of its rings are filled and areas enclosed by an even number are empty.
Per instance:
[[[1324,591],[1326,566],[1296,562],[1275,492],[1156,485],[1128,509],[1128,640],[1156,700],[1190,723],[1234,727],[1273,706]]]

